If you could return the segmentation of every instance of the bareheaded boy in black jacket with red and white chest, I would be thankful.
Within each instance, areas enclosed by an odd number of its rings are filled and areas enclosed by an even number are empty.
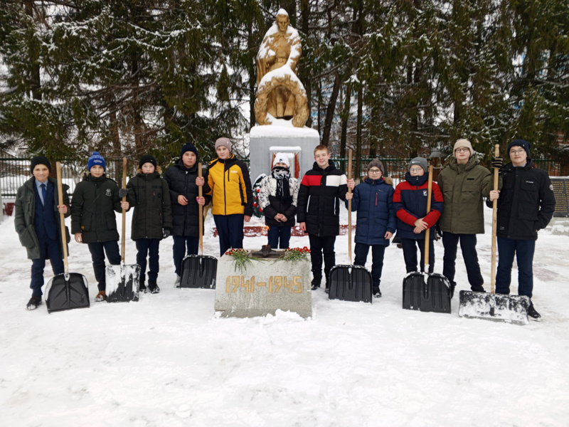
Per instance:
[[[340,200],[346,201],[348,181],[344,172],[336,169],[330,160],[326,145],[314,149],[314,160],[314,166],[300,183],[297,220],[310,241],[312,289],[320,288],[324,253],[326,292],[329,292],[329,273],[336,264],[334,243],[340,233]]]

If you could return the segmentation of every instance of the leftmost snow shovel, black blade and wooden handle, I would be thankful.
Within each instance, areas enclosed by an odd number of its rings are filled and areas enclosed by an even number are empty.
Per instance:
[[[56,164],[58,172],[58,205],[63,204],[63,186],[61,185],[61,164]],[[46,306],[48,313],[89,307],[89,288],[87,279],[80,273],[69,273],[67,263],[67,238],[65,233],[65,215],[59,214],[61,227],[61,248],[65,273],[52,278],[46,286]]]

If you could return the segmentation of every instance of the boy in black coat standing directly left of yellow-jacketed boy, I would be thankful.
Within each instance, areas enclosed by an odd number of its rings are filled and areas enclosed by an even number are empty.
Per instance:
[[[178,162],[166,169],[164,174],[172,206],[172,251],[176,285],[180,283],[184,256],[198,253],[199,205],[204,206],[211,201],[211,196],[198,197],[199,186],[203,186],[203,194],[210,191],[207,171],[204,170],[203,174],[201,178],[198,177],[198,150],[189,142],[182,147]]]

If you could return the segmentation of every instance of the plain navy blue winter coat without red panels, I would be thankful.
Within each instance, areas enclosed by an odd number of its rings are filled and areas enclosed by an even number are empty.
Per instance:
[[[351,210],[358,211],[356,243],[389,246],[389,239],[384,236],[386,231],[395,233],[394,193],[393,185],[387,184],[383,176],[380,179],[366,178],[353,189]]]

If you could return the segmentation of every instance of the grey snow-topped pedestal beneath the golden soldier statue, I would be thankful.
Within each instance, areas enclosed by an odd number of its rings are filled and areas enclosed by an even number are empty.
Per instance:
[[[314,165],[314,148],[320,144],[318,131],[309,127],[293,127],[286,120],[276,120],[285,125],[252,127],[249,144],[249,173],[251,181],[260,174],[270,174],[272,159],[277,153],[289,153],[290,174],[302,176]]]

